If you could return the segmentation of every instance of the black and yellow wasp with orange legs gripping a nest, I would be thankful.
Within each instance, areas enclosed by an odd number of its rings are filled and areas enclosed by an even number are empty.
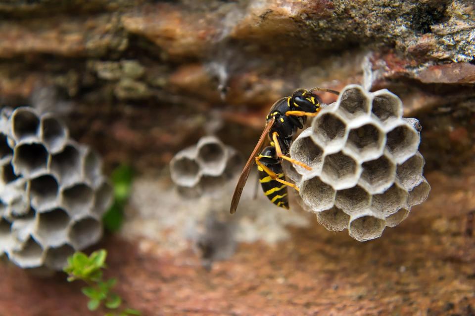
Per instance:
[[[266,117],[266,127],[239,176],[238,184],[231,200],[231,214],[236,212],[239,198],[254,162],[256,162],[257,169],[259,170],[259,182],[264,194],[272,203],[288,209],[287,186],[297,191],[298,188],[295,184],[285,180],[281,162],[282,159],[285,159],[311,170],[305,163],[286,155],[289,153],[292,137],[297,129],[303,128],[307,117],[315,117],[320,111],[321,100],[317,95],[313,94],[313,91],[339,94],[337,91],[323,88],[299,89],[292,96],[282,98],[274,103]],[[266,136],[271,144],[256,156],[264,144]]]

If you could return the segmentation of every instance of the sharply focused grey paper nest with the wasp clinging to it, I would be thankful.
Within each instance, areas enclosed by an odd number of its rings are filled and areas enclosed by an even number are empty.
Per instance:
[[[417,119],[402,118],[396,95],[348,85],[290,148],[312,170],[286,164],[286,174],[328,230],[374,239],[428,196],[420,130]]]

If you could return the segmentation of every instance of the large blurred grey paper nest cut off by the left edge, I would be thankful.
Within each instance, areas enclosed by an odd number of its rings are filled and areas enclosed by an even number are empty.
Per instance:
[[[112,189],[99,158],[52,114],[0,113],[0,255],[21,268],[60,270],[102,235]]]

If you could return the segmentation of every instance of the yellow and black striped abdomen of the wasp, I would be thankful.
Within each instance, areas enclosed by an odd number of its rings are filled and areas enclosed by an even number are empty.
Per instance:
[[[268,165],[268,167],[274,172],[278,171],[275,169],[281,169],[280,172],[276,173],[279,178],[285,180],[285,175],[282,172],[282,167],[280,164]],[[277,206],[288,209],[287,186],[276,180],[272,180],[271,177],[261,167],[257,167],[257,169],[259,170],[259,182],[261,183],[265,196]]]

